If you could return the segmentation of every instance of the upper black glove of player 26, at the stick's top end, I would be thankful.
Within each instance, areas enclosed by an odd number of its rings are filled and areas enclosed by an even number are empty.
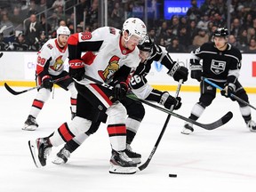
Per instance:
[[[173,63],[172,69],[170,69],[167,74],[169,76],[172,76],[175,81],[180,81],[180,79],[183,80],[183,82],[186,82],[188,80],[188,68],[185,68],[184,66],[180,66],[176,61]]]

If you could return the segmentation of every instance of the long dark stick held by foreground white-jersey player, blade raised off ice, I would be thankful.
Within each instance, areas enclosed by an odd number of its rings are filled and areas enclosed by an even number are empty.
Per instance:
[[[97,79],[94,79],[92,76],[84,75],[84,77],[87,78],[88,80],[94,82],[95,84],[100,84],[101,86],[107,87],[110,90],[113,89],[113,86],[111,86],[109,84],[102,83],[102,82],[98,81]],[[78,82],[78,84],[79,84],[79,82]],[[187,122],[189,122],[191,124],[196,124],[197,126],[203,128],[205,130],[213,130],[213,129],[216,129],[216,128],[220,127],[223,124],[227,124],[228,121],[233,117],[232,112],[228,111],[228,113],[225,116],[222,116],[219,120],[213,122],[212,124],[201,124],[201,123],[196,122],[196,121],[194,121],[194,120],[192,120],[190,118],[187,118],[185,116],[180,116],[179,114],[176,114],[176,113],[174,113],[174,112],[172,112],[170,110],[167,110],[166,108],[161,108],[160,106],[157,106],[157,105],[155,105],[155,104],[153,104],[153,103],[151,103],[151,102],[149,102],[147,100],[141,100],[140,98],[137,98],[136,95],[134,95],[134,94],[127,94],[126,97],[128,97],[128,98],[130,98],[132,100],[138,100],[141,103],[144,103],[144,104],[146,104],[146,105],[148,105],[148,106],[150,106],[152,108],[156,108],[158,110],[161,110],[164,113],[167,113],[167,114],[170,114],[170,115],[175,116],[177,118],[180,118],[180,119],[182,119],[184,121],[187,121]]]

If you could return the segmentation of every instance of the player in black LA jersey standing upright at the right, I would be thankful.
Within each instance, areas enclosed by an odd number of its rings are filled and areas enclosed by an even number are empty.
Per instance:
[[[202,65],[200,60],[203,60]],[[249,102],[244,87],[238,81],[241,60],[241,52],[228,44],[227,28],[217,28],[213,33],[213,42],[203,44],[191,52],[191,78],[200,82],[201,96],[192,108],[190,119],[196,121],[203,114],[204,109],[211,105],[216,96],[216,88],[202,81],[202,77],[207,77],[220,87],[224,87],[220,92],[221,95],[234,100],[230,95],[235,94],[242,100]],[[256,132],[256,124],[252,121],[250,107],[239,101],[238,104],[246,126],[251,132]],[[181,133],[189,134],[193,131],[193,124],[186,122]]]

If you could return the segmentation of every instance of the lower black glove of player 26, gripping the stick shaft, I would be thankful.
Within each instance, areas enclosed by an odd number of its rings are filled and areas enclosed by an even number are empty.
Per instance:
[[[177,110],[181,107],[181,98],[177,97],[176,99],[172,97],[168,92],[164,92],[162,94],[161,100],[159,102],[161,105],[164,105],[164,108],[171,109],[172,105],[174,105],[174,110]]]

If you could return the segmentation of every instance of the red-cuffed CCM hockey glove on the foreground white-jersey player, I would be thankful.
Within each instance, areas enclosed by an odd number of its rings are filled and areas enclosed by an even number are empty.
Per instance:
[[[69,76],[75,78],[77,81],[81,81],[84,77],[85,68],[82,60],[69,60]]]

